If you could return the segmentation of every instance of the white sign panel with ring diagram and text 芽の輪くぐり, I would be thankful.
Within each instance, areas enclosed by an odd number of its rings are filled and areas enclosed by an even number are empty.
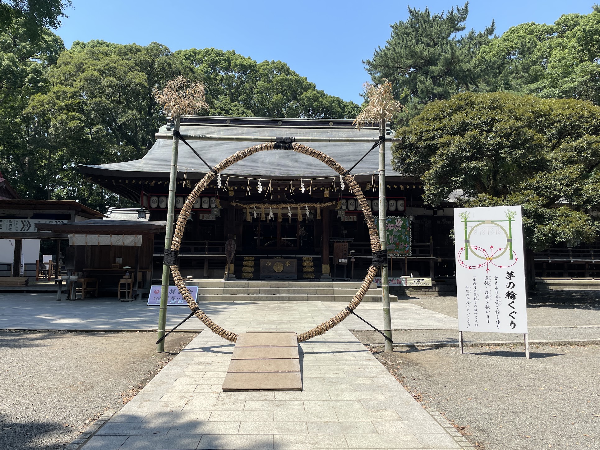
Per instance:
[[[454,209],[458,330],[527,333],[521,206]]]

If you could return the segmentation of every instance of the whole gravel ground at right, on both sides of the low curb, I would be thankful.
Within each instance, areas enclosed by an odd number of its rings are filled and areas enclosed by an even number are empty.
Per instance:
[[[457,317],[456,297],[401,301]],[[532,340],[600,338],[600,292],[562,290],[532,296],[527,319]],[[364,344],[383,343],[374,331],[354,334]],[[457,331],[404,330],[394,331],[393,337],[397,343],[455,342]],[[496,341],[521,336],[470,332],[464,338]],[[600,449],[598,345],[530,345],[529,361],[521,344],[466,347],[464,355],[455,347],[374,354],[417,400],[443,413],[476,448]]]

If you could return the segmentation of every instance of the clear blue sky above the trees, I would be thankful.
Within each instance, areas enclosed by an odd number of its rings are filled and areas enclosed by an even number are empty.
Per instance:
[[[362,83],[369,79],[362,60],[385,45],[389,25],[406,19],[408,4],[432,12],[455,5],[439,0],[73,0],[57,32],[67,48],[75,40],[157,41],[173,51],[215,47],[259,62],[280,59],[318,89],[361,103]],[[589,14],[592,5],[593,0],[472,0],[467,29],[479,31],[495,19],[496,32],[502,34],[523,22],[553,23],[562,14]]]

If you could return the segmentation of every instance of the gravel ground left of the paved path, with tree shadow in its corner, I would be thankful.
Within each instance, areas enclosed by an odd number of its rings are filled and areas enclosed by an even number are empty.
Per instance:
[[[155,333],[0,331],[0,449],[64,448],[196,335],[174,333],[156,353]]]

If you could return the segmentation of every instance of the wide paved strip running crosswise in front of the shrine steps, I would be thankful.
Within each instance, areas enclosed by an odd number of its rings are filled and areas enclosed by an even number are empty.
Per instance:
[[[244,326],[253,320],[254,329],[269,328],[280,320],[302,320],[287,313],[286,302],[258,302],[268,309],[258,317],[248,317],[236,312],[237,305],[252,302],[202,302],[200,307],[211,316],[224,314],[231,326]],[[322,314],[329,317],[342,310],[341,302],[295,302],[299,310],[318,305]],[[382,304],[367,302],[356,312],[374,326],[383,328]],[[391,305],[392,326],[395,329],[457,329],[457,320],[413,304]],[[177,325],[190,313],[186,306],[170,306],[167,310],[167,329]],[[324,317],[328,319],[329,317]],[[157,328],[158,307],[147,306],[145,301],[121,302],[114,298],[85,299],[57,302],[53,294],[0,293],[0,329],[60,329],[60,330],[153,330]],[[289,326],[295,326],[290,323]],[[370,329],[364,322],[350,316],[344,321],[349,329]],[[302,326],[299,326],[302,328]],[[192,317],[180,327],[182,330],[202,330],[205,326]],[[304,330],[302,330],[304,331]]]

